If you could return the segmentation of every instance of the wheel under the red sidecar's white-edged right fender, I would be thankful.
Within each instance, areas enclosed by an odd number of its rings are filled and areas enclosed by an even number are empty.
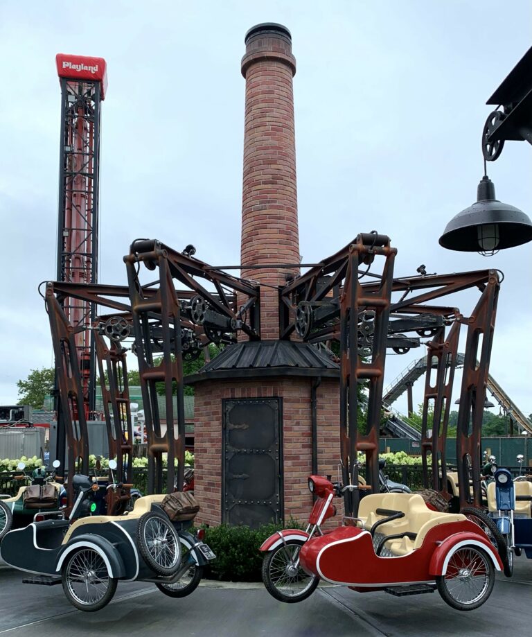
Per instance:
[[[495,569],[486,551],[461,546],[450,557],[447,573],[436,577],[444,602],[456,611],[472,611],[486,602],[493,590]]]

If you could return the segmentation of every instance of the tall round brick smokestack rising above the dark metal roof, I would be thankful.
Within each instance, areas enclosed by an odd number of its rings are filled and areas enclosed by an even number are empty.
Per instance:
[[[292,55],[292,37],[281,24],[258,24],[247,32],[245,44],[240,263],[297,264],[300,257],[292,91],[296,60]],[[285,285],[287,274],[299,274],[299,268],[242,270],[243,278],[261,284],[262,340],[279,338],[277,288]]]

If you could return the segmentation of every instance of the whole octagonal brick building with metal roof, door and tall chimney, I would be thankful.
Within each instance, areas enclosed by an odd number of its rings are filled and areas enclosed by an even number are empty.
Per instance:
[[[278,340],[279,289],[301,261],[296,60],[279,24],[254,26],[245,44],[241,275],[260,284],[260,340],[240,335],[186,382],[195,385],[198,519],[257,526],[306,518],[312,468],[336,473],[339,365],[296,337]]]

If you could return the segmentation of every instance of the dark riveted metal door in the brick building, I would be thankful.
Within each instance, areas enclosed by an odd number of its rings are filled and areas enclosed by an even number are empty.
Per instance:
[[[222,518],[258,527],[283,518],[281,399],[223,401]]]

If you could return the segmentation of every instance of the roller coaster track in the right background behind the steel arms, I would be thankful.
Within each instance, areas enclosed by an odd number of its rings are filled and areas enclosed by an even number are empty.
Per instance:
[[[456,356],[456,367],[463,367],[463,354],[457,354]],[[425,374],[425,369],[427,369],[427,356],[423,356],[423,358],[418,358],[418,360],[414,360],[410,365],[404,369],[401,374],[388,386],[385,388],[382,396],[382,403],[385,409],[389,409],[389,405],[394,403],[399,396],[407,390],[408,383],[415,383],[420,376]],[[511,400],[510,396],[506,394],[506,392],[502,389],[502,387],[495,381],[493,376],[488,375],[488,391],[493,396],[493,398],[499,403],[504,412],[508,414],[508,417],[513,421],[513,423],[519,428],[520,431],[527,431],[528,433],[532,433],[532,423],[525,417],[523,412],[515,405],[515,403]],[[398,412],[393,412],[395,416]],[[404,421],[405,417],[398,415],[398,419]],[[403,425],[407,425],[407,427],[411,427],[407,423],[402,423]],[[392,432],[393,433],[393,432]],[[411,432],[412,434],[413,432]],[[411,435],[407,435],[407,437],[411,437]],[[416,438],[418,439],[418,438]]]

